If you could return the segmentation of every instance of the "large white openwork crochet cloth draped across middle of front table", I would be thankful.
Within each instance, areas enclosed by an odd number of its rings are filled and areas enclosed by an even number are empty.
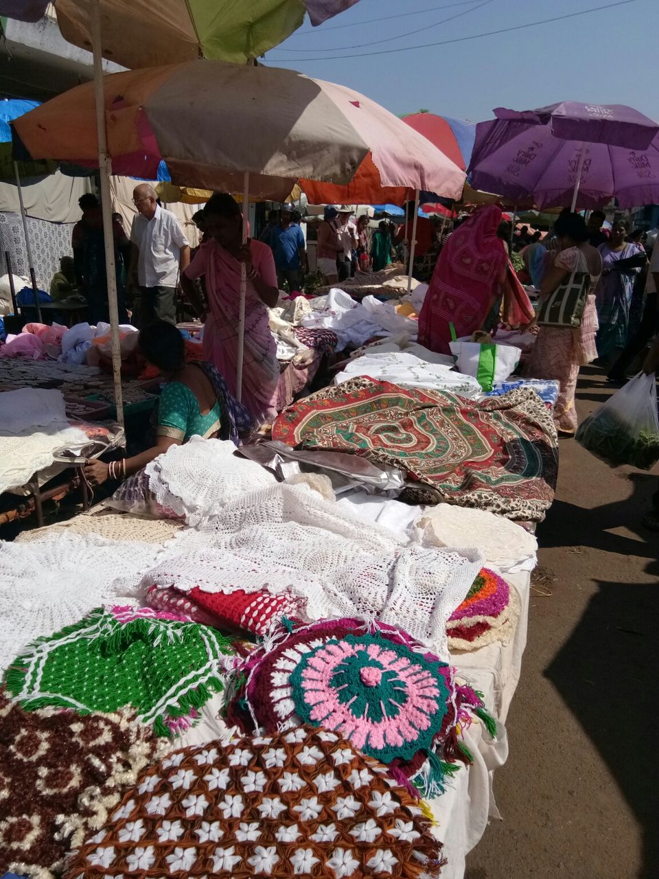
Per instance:
[[[180,555],[148,571],[144,582],[185,592],[290,592],[305,600],[310,620],[376,617],[448,657],[446,621],[482,556],[401,542],[306,485],[277,484],[180,534]]]

